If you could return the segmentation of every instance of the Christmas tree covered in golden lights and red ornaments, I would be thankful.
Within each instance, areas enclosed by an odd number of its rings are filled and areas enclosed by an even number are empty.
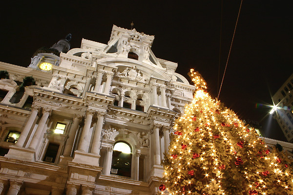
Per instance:
[[[212,99],[199,73],[191,69],[189,77],[196,90],[173,127],[162,194],[293,195],[288,155],[270,150],[233,111]]]

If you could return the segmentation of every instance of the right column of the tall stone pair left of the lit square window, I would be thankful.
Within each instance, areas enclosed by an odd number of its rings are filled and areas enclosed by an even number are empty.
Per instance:
[[[29,148],[34,149],[34,150],[37,148],[38,143],[39,143],[39,141],[40,141],[40,139],[42,137],[42,130],[43,130],[45,124],[46,124],[46,121],[47,121],[48,117],[50,116],[51,111],[52,110],[49,109],[49,108],[44,108],[43,109],[42,118],[41,118],[41,120],[39,122],[39,125],[38,125],[38,128],[37,128],[36,132],[35,132],[35,135],[33,136],[32,141],[29,144]]]

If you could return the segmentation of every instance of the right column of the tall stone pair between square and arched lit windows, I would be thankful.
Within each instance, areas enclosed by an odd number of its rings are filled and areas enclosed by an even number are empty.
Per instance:
[[[98,121],[95,129],[95,134],[93,138],[93,144],[91,153],[93,154],[100,154],[100,141],[101,141],[101,134],[102,134],[102,127],[104,122],[105,113],[98,112]]]

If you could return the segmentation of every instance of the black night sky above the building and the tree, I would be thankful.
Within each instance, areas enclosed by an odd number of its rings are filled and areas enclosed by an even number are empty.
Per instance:
[[[191,1],[190,1],[191,2]],[[226,65],[241,0],[223,0],[220,80]],[[82,38],[107,43],[113,24],[154,35],[157,58],[178,63],[186,78],[190,68],[206,79],[217,97],[221,0],[174,3],[149,1],[5,1],[1,5],[0,61],[28,66],[40,47],[50,47],[68,33],[71,48]],[[266,116],[271,95],[293,73],[293,3],[244,0],[220,100],[241,119],[260,121],[267,137],[286,140],[276,121]],[[270,125],[268,125],[270,124]]]

